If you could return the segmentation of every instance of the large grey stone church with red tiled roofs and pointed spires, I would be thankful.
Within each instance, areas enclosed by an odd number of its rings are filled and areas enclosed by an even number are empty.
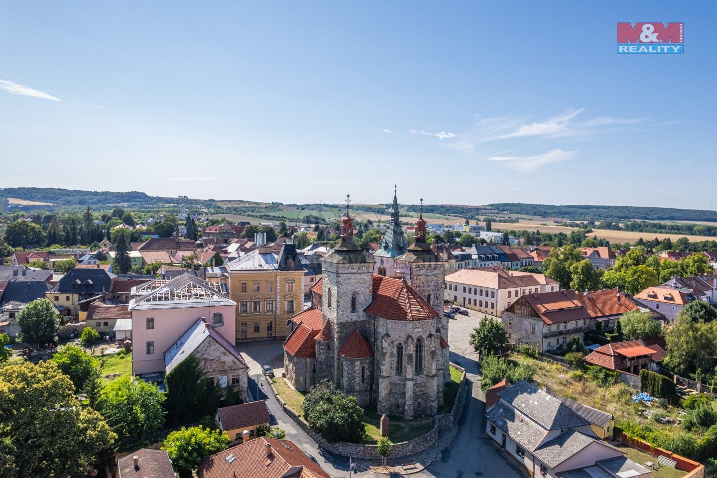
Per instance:
[[[393,274],[383,268],[386,275],[374,274],[376,261],[353,238],[347,199],[341,239],[321,259],[312,306],[292,318],[297,325],[284,343],[285,376],[299,391],[333,381],[379,414],[434,415],[450,381],[445,264],[426,242],[422,208],[414,244],[407,245],[395,196],[386,236],[382,257],[394,256]]]

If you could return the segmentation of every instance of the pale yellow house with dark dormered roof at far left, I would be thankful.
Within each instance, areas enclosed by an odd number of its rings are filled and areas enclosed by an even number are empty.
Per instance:
[[[79,317],[82,305],[80,302],[99,298],[103,292],[110,290],[110,283],[115,274],[105,269],[72,269],[67,272],[57,285],[49,289],[45,297],[52,302],[65,317]],[[90,304],[87,303],[87,306]],[[85,310],[87,310],[85,308]]]

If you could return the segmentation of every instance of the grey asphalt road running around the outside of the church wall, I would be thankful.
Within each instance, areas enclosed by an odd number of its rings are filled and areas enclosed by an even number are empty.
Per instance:
[[[411,476],[415,478],[462,478],[473,477],[525,478],[527,474],[518,465],[505,457],[498,446],[485,436],[485,396],[480,390],[480,370],[473,347],[468,343],[470,332],[478,326],[483,314],[469,311],[469,316],[457,315],[450,320],[449,343],[451,361],[466,369],[469,381],[469,393],[466,394],[465,411],[460,420],[457,434],[440,451],[440,457],[421,472]],[[259,398],[266,399],[269,411],[274,417],[272,425],[286,431],[286,437],[299,444],[302,449],[313,454],[321,467],[332,477],[349,477],[348,459],[319,449],[315,442],[290,419],[270,393],[262,377],[262,365],[283,368],[283,349],[279,341],[242,344],[237,348],[250,366],[250,393],[257,391],[259,377]],[[389,460],[390,462],[390,460]],[[360,471],[353,474],[356,478],[379,478],[385,475]],[[401,475],[391,475],[397,477]],[[466,476],[466,478],[467,478]]]

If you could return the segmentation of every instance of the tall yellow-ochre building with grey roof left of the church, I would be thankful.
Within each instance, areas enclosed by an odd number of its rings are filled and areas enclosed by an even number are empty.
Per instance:
[[[303,309],[305,271],[295,245],[259,247],[225,267],[237,302],[237,340],[285,338],[291,316]]]

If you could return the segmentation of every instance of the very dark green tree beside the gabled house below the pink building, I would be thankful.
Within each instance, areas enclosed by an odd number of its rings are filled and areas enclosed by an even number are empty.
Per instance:
[[[187,356],[177,364],[166,375],[165,383],[169,421],[214,415],[219,407],[219,387],[208,379],[194,355]]]

